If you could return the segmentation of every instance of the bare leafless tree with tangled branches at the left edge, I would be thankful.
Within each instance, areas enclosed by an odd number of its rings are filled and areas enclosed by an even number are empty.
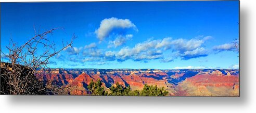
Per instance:
[[[75,35],[66,44],[62,41],[61,49],[56,49],[55,43],[47,38],[53,34],[53,28],[40,33],[35,31],[35,36],[22,45],[18,45],[10,38],[8,53],[1,50],[1,58],[8,59],[6,63],[1,61],[1,94],[47,94],[47,89],[36,76],[39,68],[48,68],[49,59],[67,47],[72,47]]]

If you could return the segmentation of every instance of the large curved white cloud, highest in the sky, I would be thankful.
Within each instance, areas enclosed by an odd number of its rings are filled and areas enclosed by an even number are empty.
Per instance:
[[[118,19],[118,18],[108,18],[104,19],[100,22],[100,26],[95,33],[97,38],[100,41],[103,41],[106,37],[108,37],[112,30],[114,29],[127,29],[133,28],[137,30],[135,24],[133,24],[129,19]]]

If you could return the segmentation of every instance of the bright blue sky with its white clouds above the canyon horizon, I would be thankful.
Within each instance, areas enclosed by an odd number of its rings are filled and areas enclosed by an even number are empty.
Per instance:
[[[60,49],[50,68],[238,68],[238,1],[1,3],[1,48],[41,31]],[[39,51],[38,54],[41,52]]]

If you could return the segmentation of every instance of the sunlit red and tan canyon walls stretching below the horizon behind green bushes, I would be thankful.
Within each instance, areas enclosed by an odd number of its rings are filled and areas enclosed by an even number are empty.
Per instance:
[[[116,83],[132,90],[147,84],[164,87],[171,96],[239,96],[237,69],[40,69],[35,75],[48,87],[59,88],[58,94],[85,95],[91,79],[99,79],[106,90]]]

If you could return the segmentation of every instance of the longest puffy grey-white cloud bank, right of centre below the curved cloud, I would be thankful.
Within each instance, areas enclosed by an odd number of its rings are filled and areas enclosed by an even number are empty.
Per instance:
[[[183,60],[207,56],[209,52],[202,46],[204,41],[208,40],[210,36],[203,37],[203,39],[176,39],[164,38],[162,40],[147,40],[142,43],[137,43],[133,48],[123,47],[116,55],[120,61],[127,59],[150,60],[162,59],[163,54],[161,50],[169,50],[176,52],[176,57],[181,57]],[[160,52],[159,52],[160,51]],[[173,59],[162,59],[162,62],[170,62]]]

